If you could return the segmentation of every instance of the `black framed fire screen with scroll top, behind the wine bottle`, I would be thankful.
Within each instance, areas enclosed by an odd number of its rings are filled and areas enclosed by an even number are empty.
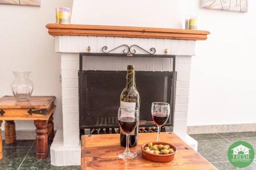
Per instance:
[[[175,56],[174,55],[154,55],[135,54],[136,50],[144,51],[138,45],[132,48],[124,45],[123,53],[80,53],[79,68],[79,129],[80,135],[119,133],[117,119],[117,109],[120,106],[120,93],[126,83],[126,68],[123,63],[122,70],[90,70],[84,62],[86,57],[104,56],[128,58],[126,64],[134,64],[136,67],[140,63],[131,63],[131,57],[137,58],[165,58],[170,61],[168,71],[141,71],[136,70],[136,86],[140,93],[140,125],[139,132],[156,132],[157,128],[151,117],[151,104],[153,102],[170,103],[170,116],[167,123],[162,127],[162,131],[173,131],[174,107],[175,107]],[[123,47],[121,45],[120,47]],[[127,50],[127,52],[125,52]],[[147,53],[145,51],[145,53]],[[115,59],[115,58],[114,58]],[[161,60],[161,59],[160,59]]]

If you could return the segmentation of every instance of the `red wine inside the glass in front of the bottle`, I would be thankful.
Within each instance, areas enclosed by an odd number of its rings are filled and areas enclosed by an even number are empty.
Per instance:
[[[134,117],[120,117],[118,123],[125,133],[131,133],[137,125],[137,119]]]

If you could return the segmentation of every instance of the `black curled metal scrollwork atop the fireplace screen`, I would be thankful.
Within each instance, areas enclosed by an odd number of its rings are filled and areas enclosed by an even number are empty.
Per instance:
[[[143,52],[147,53],[147,54],[155,54],[156,53],[156,49],[155,48],[150,48],[150,51],[151,52],[148,52],[146,50],[144,50],[142,47],[138,46],[138,45],[126,45],[126,44],[123,44],[123,45],[120,45],[116,48],[114,48],[113,50],[110,50],[110,51],[106,51],[108,50],[108,47],[107,46],[103,46],[102,47],[102,52],[103,53],[110,53],[110,52],[113,52],[114,50],[116,50],[117,48],[120,48],[120,47],[124,47],[123,49],[123,54],[135,54],[136,53],[136,50],[135,48],[138,48],[139,50],[142,50]]]

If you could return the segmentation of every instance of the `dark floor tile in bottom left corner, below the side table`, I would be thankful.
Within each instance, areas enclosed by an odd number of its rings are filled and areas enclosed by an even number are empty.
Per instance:
[[[22,163],[29,148],[3,148],[3,159],[0,160],[0,170],[4,169],[17,169]]]

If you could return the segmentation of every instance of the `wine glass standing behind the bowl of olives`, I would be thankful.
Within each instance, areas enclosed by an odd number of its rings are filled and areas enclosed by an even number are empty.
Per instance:
[[[157,125],[157,141],[160,141],[160,129],[170,115],[170,105],[163,102],[154,102],[151,106],[152,119]]]

